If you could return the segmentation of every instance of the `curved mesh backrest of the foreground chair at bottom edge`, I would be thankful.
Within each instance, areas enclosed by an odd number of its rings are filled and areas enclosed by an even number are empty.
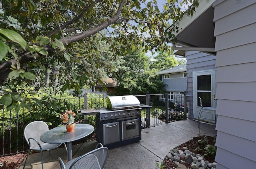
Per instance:
[[[102,169],[108,157],[108,148],[100,147],[78,157],[71,165],[70,169]]]

